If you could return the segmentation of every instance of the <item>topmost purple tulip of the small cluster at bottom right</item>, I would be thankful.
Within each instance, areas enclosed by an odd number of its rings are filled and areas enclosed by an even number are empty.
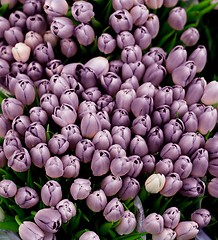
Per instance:
[[[164,211],[162,217],[164,219],[164,226],[174,229],[180,221],[180,211],[177,207],[170,207]]]

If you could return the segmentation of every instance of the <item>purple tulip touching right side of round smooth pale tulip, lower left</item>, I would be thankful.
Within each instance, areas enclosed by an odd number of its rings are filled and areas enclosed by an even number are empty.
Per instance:
[[[76,178],[80,171],[80,160],[73,155],[64,155],[61,157],[63,163],[63,177],[65,178]]]

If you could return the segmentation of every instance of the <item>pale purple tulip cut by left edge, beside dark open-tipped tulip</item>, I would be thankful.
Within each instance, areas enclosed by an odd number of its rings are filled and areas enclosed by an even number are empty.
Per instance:
[[[0,196],[3,198],[14,197],[17,192],[16,184],[9,180],[3,179],[0,181]]]

